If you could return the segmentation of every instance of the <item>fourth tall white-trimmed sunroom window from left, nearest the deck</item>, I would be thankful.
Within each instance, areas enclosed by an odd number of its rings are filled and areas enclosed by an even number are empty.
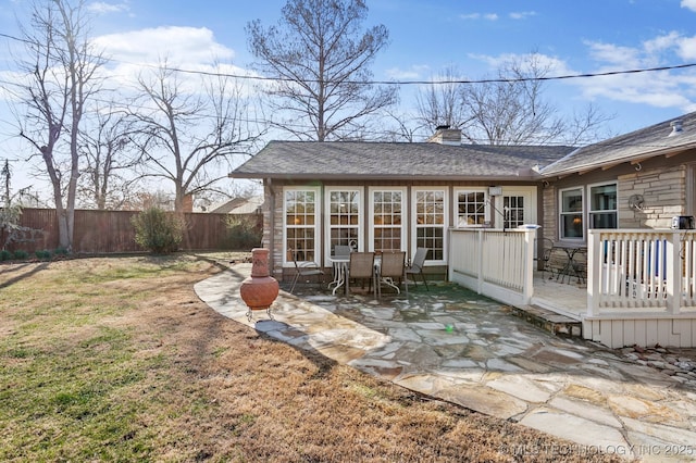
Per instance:
[[[446,255],[447,190],[414,189],[413,209],[415,247],[428,249],[428,260],[444,262]]]

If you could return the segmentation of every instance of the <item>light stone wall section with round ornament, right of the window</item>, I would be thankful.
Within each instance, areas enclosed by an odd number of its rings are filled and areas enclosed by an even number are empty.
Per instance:
[[[670,228],[674,215],[686,213],[686,166],[637,171],[619,176],[619,227]],[[632,195],[643,195],[642,211],[629,207]]]

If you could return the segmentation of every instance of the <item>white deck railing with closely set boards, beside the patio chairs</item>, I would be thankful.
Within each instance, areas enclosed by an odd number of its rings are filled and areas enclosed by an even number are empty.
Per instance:
[[[533,295],[535,229],[451,228],[449,280],[510,304]]]

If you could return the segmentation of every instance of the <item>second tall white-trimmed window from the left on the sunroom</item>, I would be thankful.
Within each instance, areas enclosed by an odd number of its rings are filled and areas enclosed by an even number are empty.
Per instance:
[[[326,188],[328,222],[328,254],[334,255],[336,246],[362,249],[360,227],[362,224],[361,188]]]

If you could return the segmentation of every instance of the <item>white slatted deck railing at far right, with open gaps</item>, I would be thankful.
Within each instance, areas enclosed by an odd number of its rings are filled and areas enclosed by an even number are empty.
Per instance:
[[[587,314],[693,311],[695,236],[691,230],[589,230]]]

